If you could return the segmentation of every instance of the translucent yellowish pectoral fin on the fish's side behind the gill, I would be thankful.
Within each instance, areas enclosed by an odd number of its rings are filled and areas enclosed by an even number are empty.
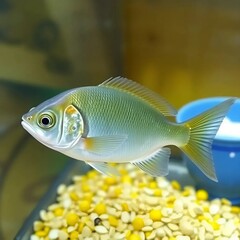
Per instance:
[[[117,150],[127,139],[127,135],[107,135],[83,139],[85,150],[97,155],[109,155]]]

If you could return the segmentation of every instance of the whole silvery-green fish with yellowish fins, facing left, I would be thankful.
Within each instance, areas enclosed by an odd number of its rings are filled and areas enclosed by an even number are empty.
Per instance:
[[[157,177],[168,174],[170,146],[181,149],[217,181],[211,145],[235,98],[183,122],[163,97],[124,77],[64,91],[22,116],[23,128],[43,145],[106,175],[131,163]]]

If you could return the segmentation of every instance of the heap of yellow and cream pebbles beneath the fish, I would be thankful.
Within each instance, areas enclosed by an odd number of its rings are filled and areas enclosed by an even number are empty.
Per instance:
[[[130,164],[119,169],[118,177],[92,170],[60,185],[31,240],[240,239],[240,207],[228,200],[208,201],[204,190],[152,178]]]

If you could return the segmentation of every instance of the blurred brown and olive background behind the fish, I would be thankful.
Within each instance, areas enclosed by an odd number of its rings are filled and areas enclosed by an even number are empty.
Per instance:
[[[240,2],[0,0],[0,239],[12,239],[67,163],[23,113],[69,88],[125,76],[176,108],[240,95]]]

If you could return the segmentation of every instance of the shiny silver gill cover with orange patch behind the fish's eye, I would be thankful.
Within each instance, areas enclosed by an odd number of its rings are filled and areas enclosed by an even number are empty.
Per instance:
[[[62,136],[60,146],[63,148],[73,146],[82,136],[84,122],[81,113],[73,105],[66,107],[63,113]]]

